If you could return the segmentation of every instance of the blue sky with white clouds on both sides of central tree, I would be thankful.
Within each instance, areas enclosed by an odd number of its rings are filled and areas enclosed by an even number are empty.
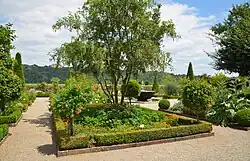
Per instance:
[[[48,53],[64,42],[72,33],[52,30],[52,25],[69,11],[76,11],[84,0],[0,0],[0,24],[14,24],[17,39],[12,55],[21,52],[24,64],[50,65]],[[214,47],[207,33],[211,26],[222,22],[233,4],[246,0],[157,0],[162,4],[162,20],[172,19],[178,40],[164,38],[163,50],[171,53],[172,71],[185,74],[192,62],[194,73],[213,75],[212,60],[206,52]],[[168,70],[169,71],[169,70]]]

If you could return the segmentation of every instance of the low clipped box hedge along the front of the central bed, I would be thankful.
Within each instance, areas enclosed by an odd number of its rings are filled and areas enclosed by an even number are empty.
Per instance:
[[[192,136],[201,133],[211,133],[212,124],[208,122],[201,121],[199,124],[193,125],[180,125],[171,128],[156,128],[156,129],[146,129],[138,131],[130,131],[127,133],[117,132],[117,133],[106,133],[106,134],[94,134],[92,136],[87,135],[76,135],[69,137],[67,136],[63,121],[58,117],[53,111],[54,125],[55,125],[55,137],[57,142],[57,148],[60,151],[80,149],[80,148],[97,148],[106,146],[118,145],[122,147],[123,144],[139,144],[140,142],[153,141],[156,142],[161,139],[172,139],[178,137]],[[183,121],[191,121],[193,119],[180,116]],[[192,138],[192,137],[191,137]],[[142,145],[145,143],[142,143]],[[104,148],[105,149],[105,148]],[[108,148],[109,149],[109,148]],[[110,149],[112,150],[112,148]],[[86,150],[88,151],[88,150]],[[95,150],[90,150],[94,152]],[[58,153],[58,154],[59,154]],[[60,155],[60,154],[59,154]]]

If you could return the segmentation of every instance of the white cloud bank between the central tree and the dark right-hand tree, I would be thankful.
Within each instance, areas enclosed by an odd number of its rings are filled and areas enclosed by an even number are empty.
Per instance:
[[[214,51],[207,33],[215,23],[215,16],[199,17],[195,8],[179,3],[165,3],[161,12],[163,20],[173,20],[181,36],[175,41],[164,40],[164,50],[172,53],[174,73],[186,73],[188,63],[192,62],[195,74],[214,74],[212,60],[204,51]]]

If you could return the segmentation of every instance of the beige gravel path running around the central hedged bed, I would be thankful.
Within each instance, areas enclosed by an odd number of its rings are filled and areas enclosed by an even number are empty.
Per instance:
[[[0,146],[1,161],[250,161],[250,131],[214,127],[215,136],[57,158],[48,99],[38,98]]]

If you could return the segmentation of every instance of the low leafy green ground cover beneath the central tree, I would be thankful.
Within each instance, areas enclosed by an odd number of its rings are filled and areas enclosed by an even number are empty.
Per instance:
[[[138,106],[98,105],[86,107],[75,118],[75,123],[85,126],[117,128],[121,125],[139,126],[163,121],[164,116],[164,113],[139,108]]]

